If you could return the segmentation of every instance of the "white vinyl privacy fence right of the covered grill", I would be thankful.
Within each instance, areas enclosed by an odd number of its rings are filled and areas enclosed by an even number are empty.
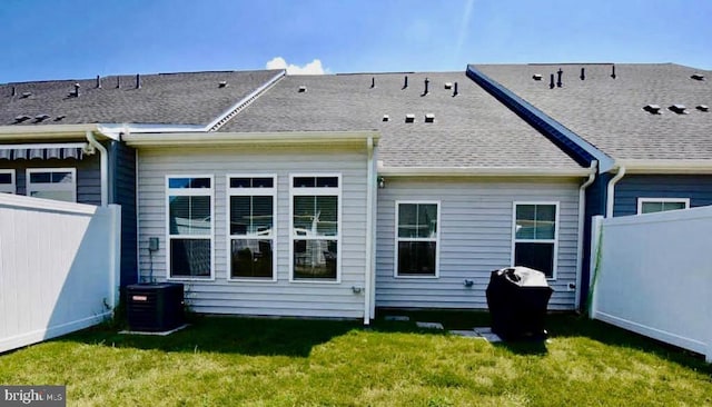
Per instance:
[[[591,317],[712,361],[712,207],[593,226]]]

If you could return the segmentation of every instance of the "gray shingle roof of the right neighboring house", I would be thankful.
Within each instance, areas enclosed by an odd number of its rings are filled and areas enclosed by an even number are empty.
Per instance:
[[[712,159],[712,75],[673,63],[475,64],[544,113],[619,159]],[[550,75],[562,69],[561,88]],[[585,68],[582,80],[581,68]],[[695,72],[705,80],[694,80]],[[533,79],[541,75],[541,81]],[[643,110],[659,105],[661,115]],[[684,105],[688,115],[669,110]]]

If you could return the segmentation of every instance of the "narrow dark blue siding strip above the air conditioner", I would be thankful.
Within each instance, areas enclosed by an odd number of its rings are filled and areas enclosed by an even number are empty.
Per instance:
[[[121,287],[138,280],[136,232],[136,150],[119,141],[109,146],[109,202],[121,206]]]

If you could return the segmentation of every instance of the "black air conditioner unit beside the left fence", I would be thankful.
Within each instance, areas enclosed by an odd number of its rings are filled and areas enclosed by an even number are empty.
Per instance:
[[[161,332],[185,324],[182,284],[135,284],[126,297],[131,330]]]

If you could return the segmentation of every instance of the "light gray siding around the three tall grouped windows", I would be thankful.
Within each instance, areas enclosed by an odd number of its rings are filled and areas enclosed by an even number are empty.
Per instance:
[[[348,151],[316,148],[139,150],[139,267],[150,272],[149,237],[158,237],[152,276],[166,278],[167,175],[212,175],[215,280],[185,281],[190,309],[206,314],[363,318],[366,270],[365,148]],[[226,175],[276,175],[277,281],[228,281]],[[340,284],[289,281],[289,175],[340,173]]]

